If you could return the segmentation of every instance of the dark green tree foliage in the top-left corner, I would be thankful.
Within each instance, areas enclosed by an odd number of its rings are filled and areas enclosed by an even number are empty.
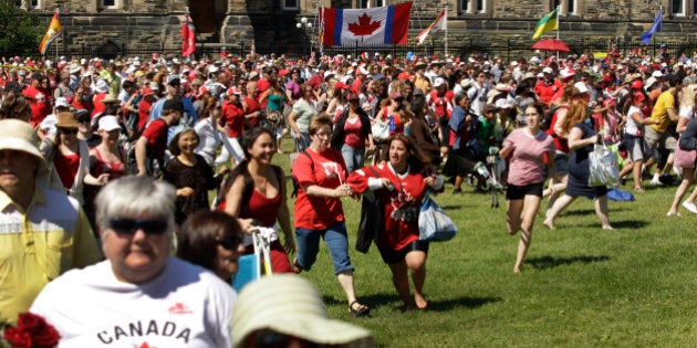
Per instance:
[[[0,52],[38,54],[38,48],[49,24],[37,14],[20,10],[12,1],[0,1]]]

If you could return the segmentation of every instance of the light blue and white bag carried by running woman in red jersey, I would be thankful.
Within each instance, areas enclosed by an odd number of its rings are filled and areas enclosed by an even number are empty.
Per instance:
[[[457,225],[427,193],[418,213],[419,240],[445,242],[457,234]]]

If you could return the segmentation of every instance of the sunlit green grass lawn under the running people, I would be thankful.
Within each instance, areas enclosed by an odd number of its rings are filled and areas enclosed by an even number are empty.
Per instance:
[[[289,172],[288,155],[274,162]],[[519,236],[506,233],[503,194],[502,207],[491,209],[489,194],[466,191],[452,196],[448,186],[435,197],[459,233],[430,245],[428,309],[403,313],[375,246],[368,254],[353,249],[361,205],[350,199],[344,211],[356,293],[372,316],[347,313],[324,244],[312,271],[300,276],[318,287],[332,318],[373,330],[382,347],[697,345],[697,215],[682,209],[683,217],[666,217],[675,187],[647,187],[635,202],[611,201],[614,231],[601,230],[585,199],[553,231],[538,217],[520,275],[512,272]]]

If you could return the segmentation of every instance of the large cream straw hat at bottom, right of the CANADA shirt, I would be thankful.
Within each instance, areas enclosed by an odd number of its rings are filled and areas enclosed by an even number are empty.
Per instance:
[[[320,345],[374,346],[371,331],[330,319],[314,286],[290,274],[264,276],[252,282],[235,302],[233,347],[243,347],[249,335],[264,329]]]

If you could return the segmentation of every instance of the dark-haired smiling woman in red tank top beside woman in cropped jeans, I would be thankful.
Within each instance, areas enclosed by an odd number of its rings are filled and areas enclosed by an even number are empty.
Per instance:
[[[242,149],[246,158],[226,180],[221,190],[225,199],[218,209],[237,217],[248,234],[252,226],[275,230],[278,222],[284,242],[281,244],[278,234],[272,234],[271,266],[274,273],[290,273],[292,268],[287,252],[295,251],[295,240],[285,203],[285,175],[283,169],[271,165],[277,151],[275,137],[264,127],[249,129],[242,137]],[[253,253],[251,244],[251,236],[246,235],[246,254]]]

